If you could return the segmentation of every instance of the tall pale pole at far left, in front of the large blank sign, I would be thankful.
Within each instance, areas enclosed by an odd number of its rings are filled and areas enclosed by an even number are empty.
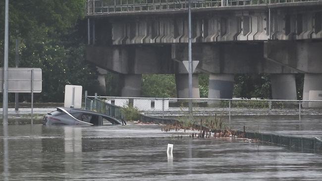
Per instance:
[[[3,100],[2,100],[2,124],[3,129],[8,125],[8,35],[9,35],[9,0],[5,0],[4,16],[4,58],[3,58]]]

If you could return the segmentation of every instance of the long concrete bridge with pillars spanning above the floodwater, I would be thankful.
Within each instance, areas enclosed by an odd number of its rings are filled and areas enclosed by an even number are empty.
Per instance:
[[[322,0],[192,0],[193,97],[209,73],[209,98],[231,98],[234,74],[271,74],[273,99],[322,100]],[[175,74],[188,97],[188,0],[88,0],[87,60],[140,96],[142,74]]]

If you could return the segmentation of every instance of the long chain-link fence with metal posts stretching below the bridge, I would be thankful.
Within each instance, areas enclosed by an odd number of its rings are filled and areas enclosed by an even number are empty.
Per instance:
[[[155,117],[189,115],[189,99],[87,96],[86,108],[102,111],[111,116],[120,115],[124,107],[132,106],[141,113]],[[319,115],[321,100],[263,100],[263,99],[192,99],[193,116],[238,115]]]

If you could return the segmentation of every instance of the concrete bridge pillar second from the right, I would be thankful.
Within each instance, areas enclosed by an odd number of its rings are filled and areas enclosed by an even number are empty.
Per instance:
[[[271,94],[277,100],[296,100],[295,74],[271,74]]]

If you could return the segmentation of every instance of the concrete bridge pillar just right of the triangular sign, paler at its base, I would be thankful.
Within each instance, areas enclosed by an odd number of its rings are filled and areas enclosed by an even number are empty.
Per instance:
[[[233,74],[211,74],[209,76],[208,98],[231,99],[233,90]],[[215,103],[215,101],[212,102]]]

